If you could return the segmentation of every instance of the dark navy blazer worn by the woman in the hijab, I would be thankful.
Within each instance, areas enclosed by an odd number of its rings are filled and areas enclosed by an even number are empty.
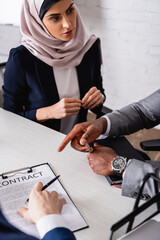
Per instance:
[[[86,52],[76,69],[81,99],[93,86],[104,95],[99,40]],[[60,100],[53,68],[36,58],[22,45],[10,51],[4,73],[3,90],[4,109],[34,121],[38,108],[53,105]],[[97,117],[100,116],[101,108],[102,105],[93,109]],[[78,122],[86,121],[86,116],[87,110],[81,108]],[[60,130],[59,119],[51,119],[43,124]]]

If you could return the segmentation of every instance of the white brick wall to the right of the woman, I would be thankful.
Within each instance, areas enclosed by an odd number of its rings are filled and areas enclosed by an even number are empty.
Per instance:
[[[160,88],[160,0],[76,0],[101,38],[106,106],[116,109]]]

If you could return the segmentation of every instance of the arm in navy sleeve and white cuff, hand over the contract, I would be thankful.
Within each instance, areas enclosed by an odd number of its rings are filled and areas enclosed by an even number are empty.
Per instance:
[[[42,189],[42,183],[37,183],[33,188],[29,207],[18,208],[18,213],[30,223],[37,225],[42,240],[75,240],[73,233],[65,227],[60,213],[65,203],[59,199],[54,191],[49,193]],[[41,229],[40,229],[41,228]],[[12,226],[0,210],[0,239],[5,240],[38,240]]]

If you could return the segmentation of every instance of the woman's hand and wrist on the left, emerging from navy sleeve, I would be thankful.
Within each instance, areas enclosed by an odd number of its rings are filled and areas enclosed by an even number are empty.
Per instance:
[[[62,98],[56,104],[40,108],[36,112],[36,119],[39,122],[48,119],[62,119],[71,115],[76,115],[80,111],[82,101],[76,98]]]

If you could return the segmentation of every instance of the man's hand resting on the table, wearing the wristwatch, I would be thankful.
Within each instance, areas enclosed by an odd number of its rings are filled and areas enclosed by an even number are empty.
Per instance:
[[[94,143],[94,151],[87,155],[89,165],[96,174],[108,176],[113,175],[111,161],[118,156],[118,154],[111,148],[100,146]]]

